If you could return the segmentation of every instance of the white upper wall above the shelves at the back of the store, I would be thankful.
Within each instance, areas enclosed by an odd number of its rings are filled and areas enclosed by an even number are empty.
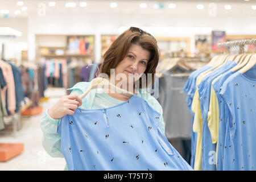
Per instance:
[[[36,34],[94,34],[96,61],[101,59],[101,34],[121,34],[130,26],[138,26],[154,36],[190,36],[191,51],[194,35],[223,30],[228,35],[256,35],[253,15],[209,17],[198,14],[30,14],[27,19],[0,19],[0,26],[10,26],[23,33],[18,42],[27,40],[28,59],[35,59]],[[24,45],[23,45],[24,46]]]

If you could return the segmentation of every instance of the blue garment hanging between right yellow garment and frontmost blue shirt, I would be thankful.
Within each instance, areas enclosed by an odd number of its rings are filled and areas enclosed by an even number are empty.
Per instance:
[[[216,93],[219,108],[219,123],[218,123],[218,153],[217,153],[217,171],[223,170],[223,159],[224,159],[224,148],[225,148],[225,134],[226,134],[226,123],[228,115],[226,115],[226,105],[223,98],[220,96],[221,86],[228,79],[229,76],[233,75],[234,72],[231,70],[222,74],[216,82],[212,84],[213,90]]]

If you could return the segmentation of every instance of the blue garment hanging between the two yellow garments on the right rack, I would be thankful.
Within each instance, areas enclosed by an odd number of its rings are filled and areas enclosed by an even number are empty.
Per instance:
[[[203,130],[202,130],[202,170],[204,171],[215,171],[216,170],[216,143],[212,143],[212,137],[210,135],[210,130],[208,127],[208,111],[210,104],[210,90],[212,86],[212,81],[229,71],[237,65],[234,61],[227,61],[225,65],[218,69],[214,69],[211,73],[204,77],[203,81],[198,85],[199,96],[200,96],[200,107],[201,114],[203,117]]]

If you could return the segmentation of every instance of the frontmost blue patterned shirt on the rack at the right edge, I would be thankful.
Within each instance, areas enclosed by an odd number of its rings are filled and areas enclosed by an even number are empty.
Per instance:
[[[224,170],[256,169],[256,65],[239,71],[222,85],[220,95],[228,107]]]

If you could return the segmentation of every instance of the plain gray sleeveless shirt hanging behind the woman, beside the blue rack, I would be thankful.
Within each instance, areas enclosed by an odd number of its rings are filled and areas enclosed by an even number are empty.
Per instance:
[[[163,77],[159,78],[158,101],[163,107],[163,118],[166,123],[166,137],[191,138],[192,122],[186,97],[183,92],[188,76],[172,77],[171,74],[191,73],[176,67],[175,71],[162,71]]]

